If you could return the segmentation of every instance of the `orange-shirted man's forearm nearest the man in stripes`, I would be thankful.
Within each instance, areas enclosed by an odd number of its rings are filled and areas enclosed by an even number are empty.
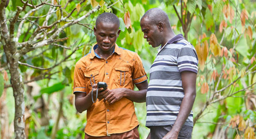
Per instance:
[[[125,97],[134,102],[146,102],[147,89],[141,89],[139,91],[133,91],[131,89],[125,90]]]

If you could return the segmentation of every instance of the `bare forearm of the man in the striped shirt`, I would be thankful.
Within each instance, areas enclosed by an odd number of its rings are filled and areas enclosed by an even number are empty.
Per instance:
[[[180,112],[177,116],[177,119],[173,125],[172,130],[175,132],[180,132],[183,124],[186,122],[188,116],[190,115],[191,109],[196,98],[196,92],[186,93],[180,105]]]

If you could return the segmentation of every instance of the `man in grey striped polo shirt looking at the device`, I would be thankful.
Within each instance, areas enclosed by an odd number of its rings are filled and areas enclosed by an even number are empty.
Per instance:
[[[146,126],[151,139],[191,139],[198,58],[182,34],[175,35],[167,14],[158,8],[141,18],[144,38],[161,48],[150,68]]]

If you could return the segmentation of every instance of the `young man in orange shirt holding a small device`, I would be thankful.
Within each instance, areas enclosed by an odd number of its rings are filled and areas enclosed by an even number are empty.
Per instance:
[[[87,110],[85,139],[140,138],[133,102],[145,102],[147,75],[137,53],[115,44],[119,33],[115,14],[99,15],[94,28],[97,44],[75,66],[75,106],[80,113]],[[98,99],[97,82],[108,85],[103,92],[99,88]]]

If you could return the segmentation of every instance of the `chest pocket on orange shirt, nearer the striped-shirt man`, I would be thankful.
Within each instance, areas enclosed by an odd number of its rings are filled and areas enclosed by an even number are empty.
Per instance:
[[[128,67],[117,67],[115,68],[116,72],[116,83],[124,86],[131,81],[131,71]]]

